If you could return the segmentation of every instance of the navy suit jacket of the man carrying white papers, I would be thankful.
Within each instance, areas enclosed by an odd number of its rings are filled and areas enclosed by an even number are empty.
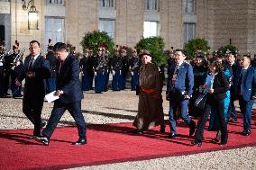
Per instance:
[[[69,55],[61,63],[61,66],[58,62],[57,68],[59,68],[59,71],[57,71],[56,89],[64,92],[57,102],[74,103],[81,101],[83,93],[79,80],[80,68],[78,60]]]

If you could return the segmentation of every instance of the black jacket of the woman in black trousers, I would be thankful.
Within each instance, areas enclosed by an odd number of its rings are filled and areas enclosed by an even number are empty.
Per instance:
[[[226,92],[229,90],[229,82],[224,76],[224,72],[220,72],[215,76],[213,88],[215,90],[213,97],[215,100],[223,100]]]

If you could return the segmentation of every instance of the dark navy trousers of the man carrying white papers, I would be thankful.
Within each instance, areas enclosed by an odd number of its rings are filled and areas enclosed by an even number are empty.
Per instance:
[[[42,130],[42,135],[50,139],[53,130],[57,127],[63,113],[68,110],[77,123],[79,139],[86,139],[87,127],[84,116],[81,112],[81,101],[75,103],[54,103],[47,126]]]

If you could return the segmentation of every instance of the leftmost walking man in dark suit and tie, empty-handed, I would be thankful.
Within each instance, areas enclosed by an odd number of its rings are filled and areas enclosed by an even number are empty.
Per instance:
[[[50,64],[40,54],[40,43],[37,40],[30,42],[31,54],[25,58],[21,75],[16,80],[16,85],[21,85],[25,79],[23,94],[23,112],[34,124],[33,136],[36,138],[41,134],[41,110],[45,95],[43,79],[50,77]]]

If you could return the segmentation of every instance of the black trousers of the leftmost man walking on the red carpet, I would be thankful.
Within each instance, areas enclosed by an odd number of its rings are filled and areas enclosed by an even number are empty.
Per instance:
[[[41,110],[43,105],[43,97],[31,97],[24,95],[23,97],[23,113],[34,124],[33,135],[41,135]]]

